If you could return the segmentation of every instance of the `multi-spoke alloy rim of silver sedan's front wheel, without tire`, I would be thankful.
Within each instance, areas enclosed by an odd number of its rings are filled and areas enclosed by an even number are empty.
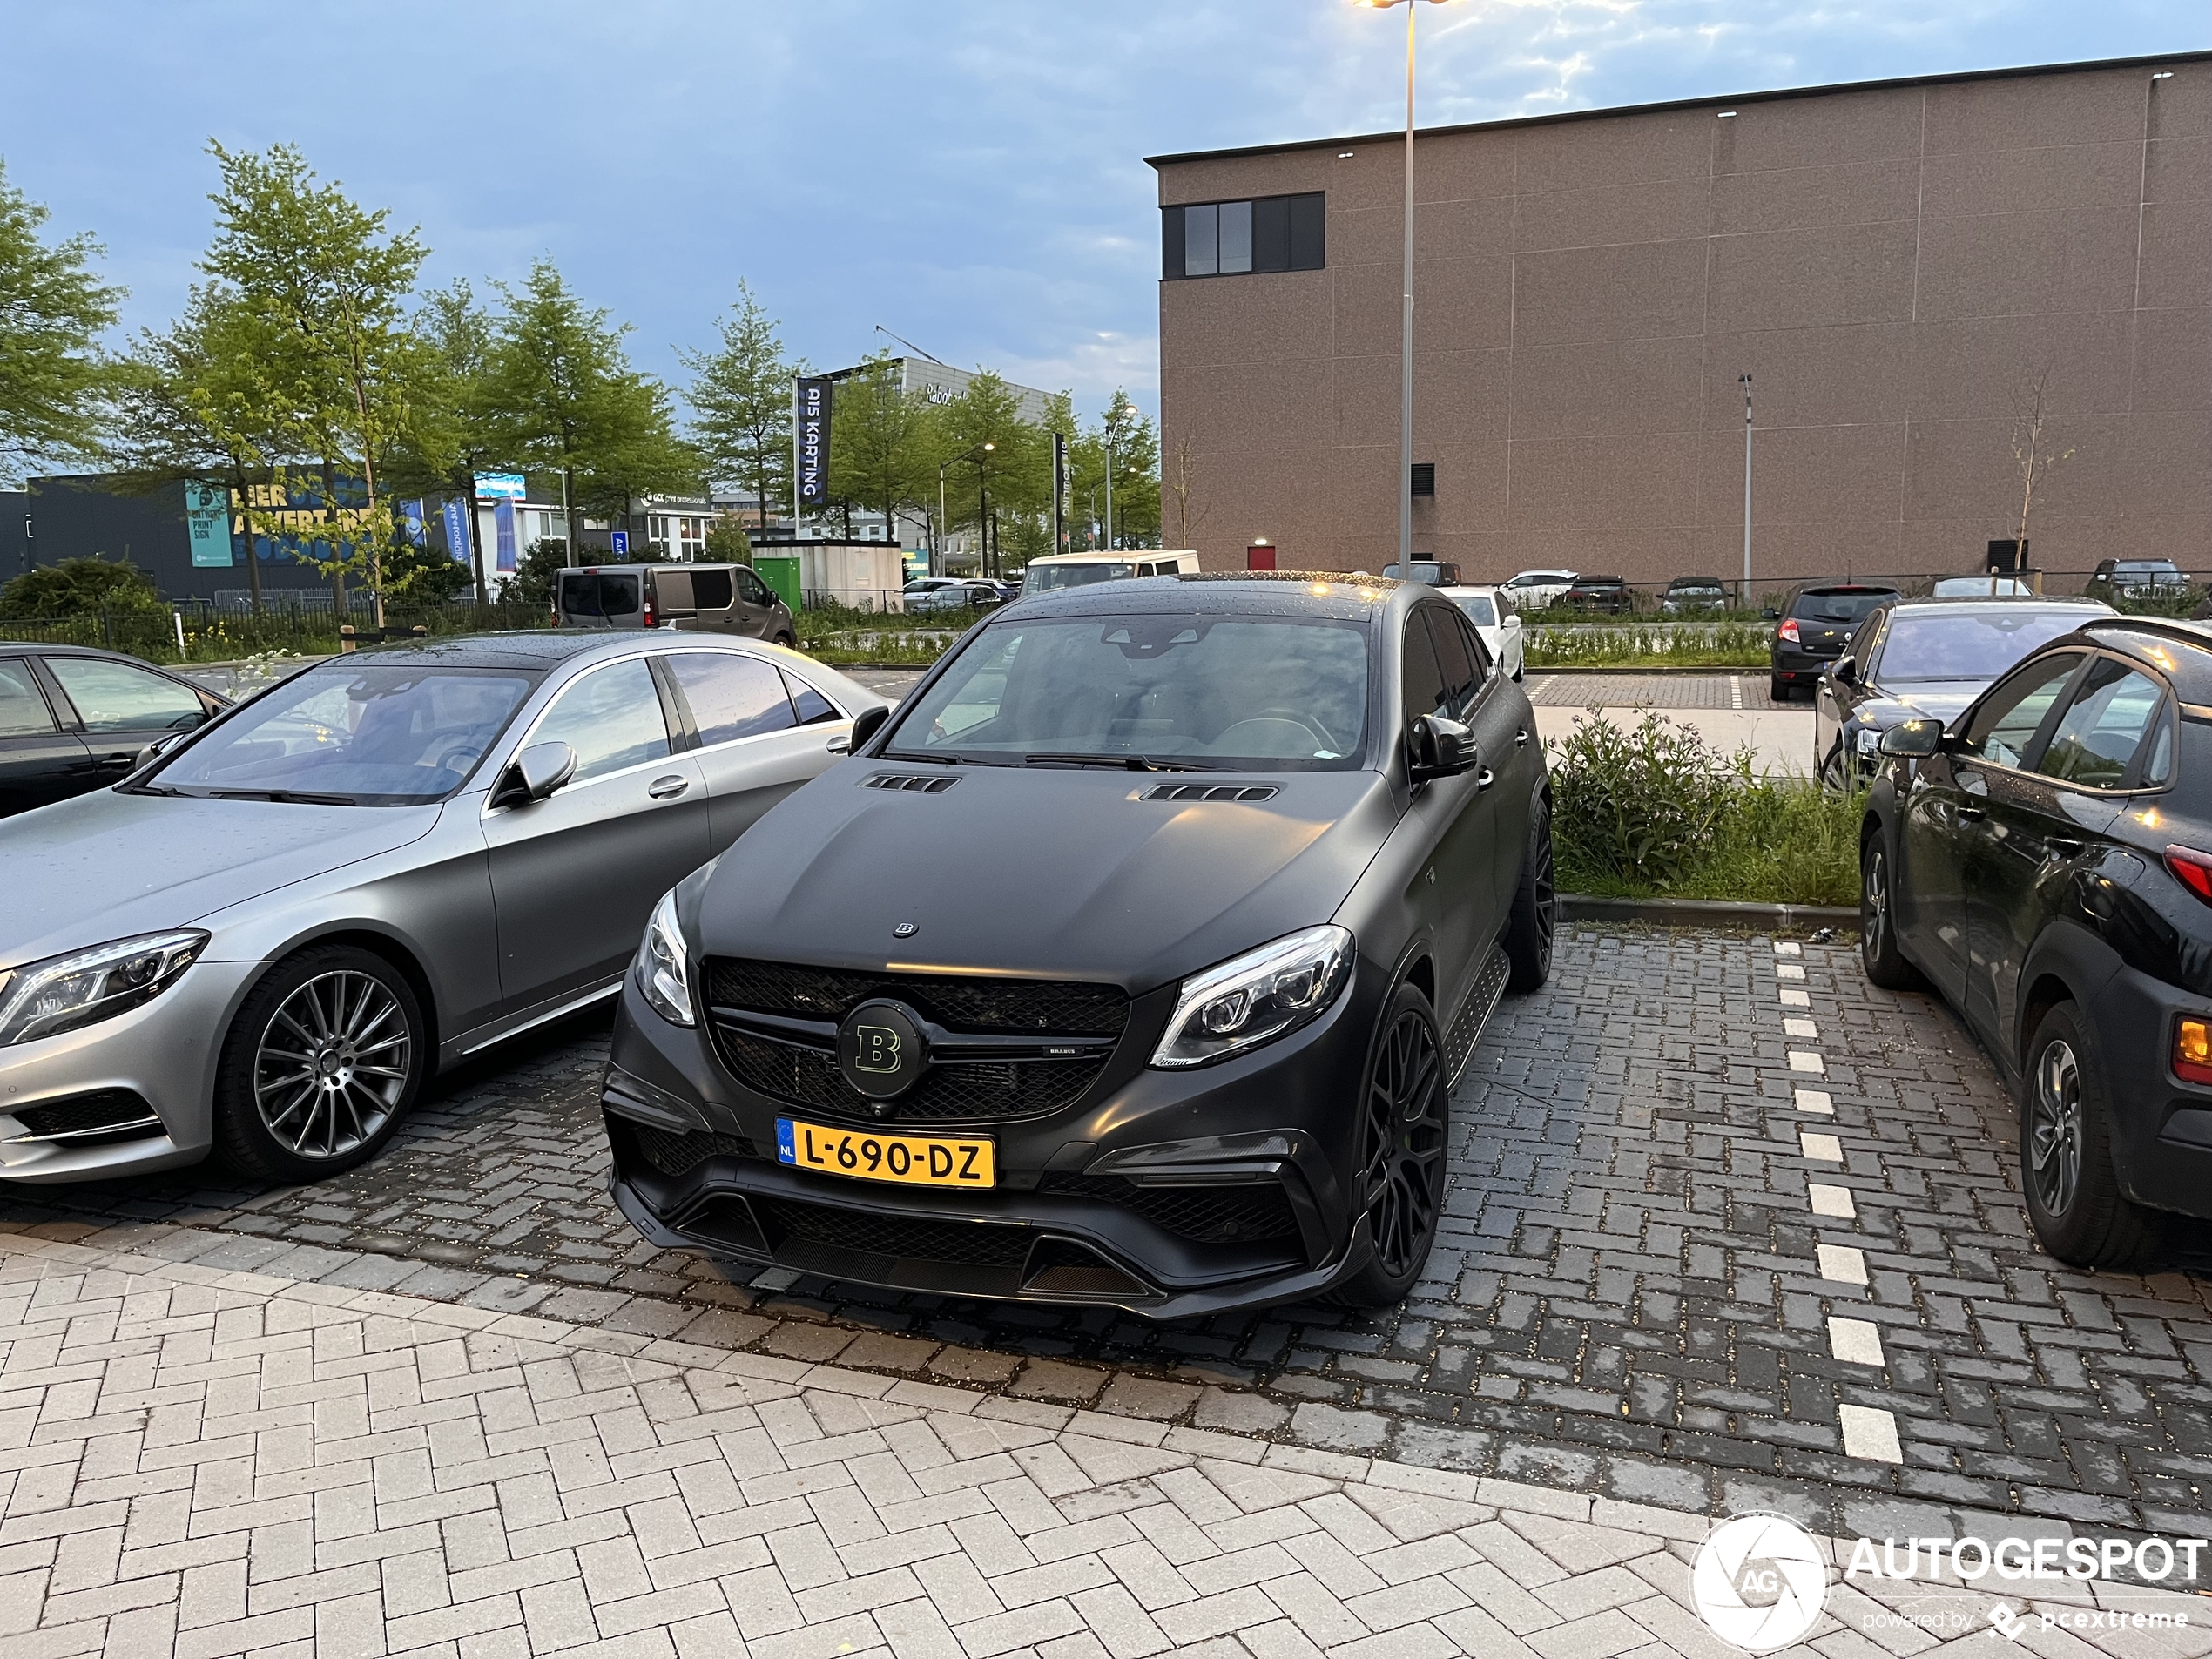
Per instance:
[[[414,1040],[398,998],[367,973],[316,973],[288,995],[254,1051],[254,1106],[296,1157],[345,1157],[398,1108]]]

